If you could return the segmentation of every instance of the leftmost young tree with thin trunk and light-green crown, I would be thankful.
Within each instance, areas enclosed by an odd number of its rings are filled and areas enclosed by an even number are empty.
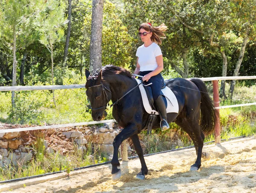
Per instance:
[[[17,58],[16,52],[32,43],[33,21],[40,12],[44,1],[36,0],[8,0],[0,1],[0,31],[2,37],[0,46],[5,50],[12,50],[12,86],[17,86]],[[12,91],[12,107],[15,106],[15,92]]]

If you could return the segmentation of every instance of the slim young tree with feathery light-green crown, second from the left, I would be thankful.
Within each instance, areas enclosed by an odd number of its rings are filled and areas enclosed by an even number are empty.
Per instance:
[[[41,13],[40,43],[44,44],[51,53],[52,85],[54,85],[53,48],[55,42],[60,41],[64,36],[64,29],[62,26],[67,23],[67,17],[65,17],[64,10],[64,3],[62,1],[48,0],[44,12]],[[56,107],[54,90],[52,91],[52,98]]]

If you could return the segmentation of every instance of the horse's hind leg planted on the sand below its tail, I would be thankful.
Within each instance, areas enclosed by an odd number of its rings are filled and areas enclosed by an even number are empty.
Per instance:
[[[175,121],[177,125],[179,125],[186,133],[189,134],[195,144],[197,158],[195,164],[190,167],[190,170],[198,170],[201,167],[201,156],[204,146],[204,133],[202,133],[202,130],[200,128],[199,115],[197,117],[198,118],[178,118]]]

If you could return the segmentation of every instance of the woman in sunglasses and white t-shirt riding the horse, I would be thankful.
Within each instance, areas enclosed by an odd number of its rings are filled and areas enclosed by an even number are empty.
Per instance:
[[[160,127],[163,131],[169,129],[169,124],[167,122],[166,106],[163,96],[160,94],[163,84],[163,77],[160,74],[163,70],[163,55],[158,44],[162,43],[160,38],[165,38],[163,32],[166,29],[165,24],[161,24],[158,27],[153,27],[151,23],[140,25],[139,35],[144,44],[137,49],[137,67],[134,71],[134,74],[143,76],[143,81],[148,84],[152,83],[150,87],[161,118]]]

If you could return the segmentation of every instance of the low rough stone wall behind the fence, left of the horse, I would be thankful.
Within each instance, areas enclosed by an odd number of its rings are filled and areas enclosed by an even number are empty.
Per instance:
[[[70,129],[62,132],[66,140],[75,143],[78,146],[79,153],[86,153],[88,141],[93,147],[99,147],[100,151],[111,159],[113,154],[113,140],[120,132],[119,128],[114,127],[114,123],[105,124],[103,127],[93,127],[88,130],[79,131],[78,129]],[[47,130],[44,130],[47,132]],[[24,143],[25,139],[21,137],[20,132],[0,133],[0,167],[9,164],[24,164],[31,161],[34,151]],[[46,153],[54,153],[55,149],[48,147],[49,141],[44,141]]]

